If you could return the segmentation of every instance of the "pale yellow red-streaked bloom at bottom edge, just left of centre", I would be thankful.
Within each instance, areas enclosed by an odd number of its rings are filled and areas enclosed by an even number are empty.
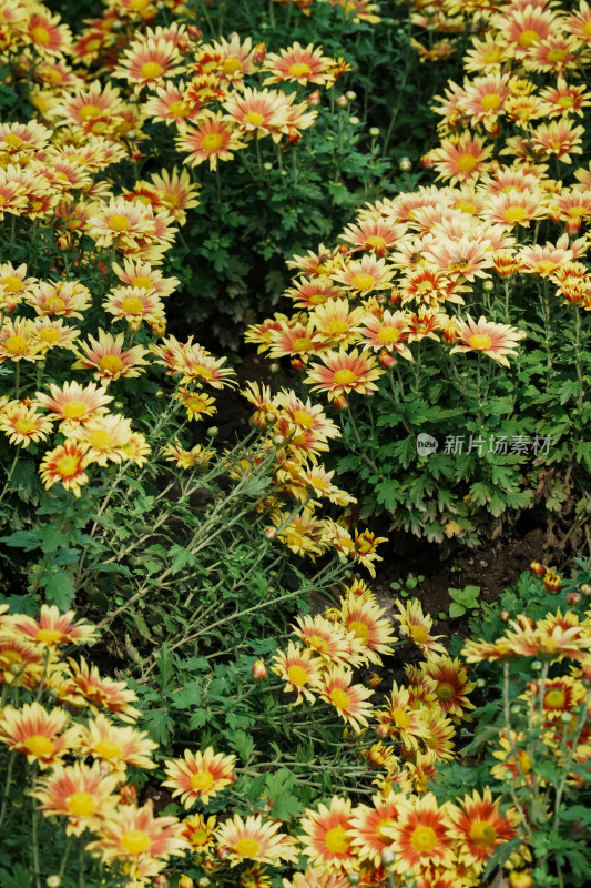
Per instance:
[[[257,860],[261,864],[277,865],[281,860],[297,862],[295,839],[278,834],[281,821],[271,824],[263,816],[248,815],[246,820],[235,814],[217,827],[215,837],[217,845],[227,851],[230,866],[235,867],[244,860]]]

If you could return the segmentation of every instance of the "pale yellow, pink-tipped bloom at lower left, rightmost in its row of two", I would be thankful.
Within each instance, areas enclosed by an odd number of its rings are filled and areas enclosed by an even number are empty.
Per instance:
[[[156,767],[152,761],[152,753],[157,749],[157,744],[147,738],[145,730],[119,727],[101,713],[82,730],[78,748],[114,771],[124,771],[128,765],[136,768]]]

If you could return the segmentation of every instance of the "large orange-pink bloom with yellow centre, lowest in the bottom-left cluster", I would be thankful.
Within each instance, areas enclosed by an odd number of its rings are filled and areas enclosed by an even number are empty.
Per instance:
[[[167,859],[184,855],[186,841],[181,838],[176,817],[154,817],[152,801],[141,808],[121,805],[110,811],[98,828],[99,839],[86,846],[99,851],[104,862],[126,860],[133,868],[144,857]]]

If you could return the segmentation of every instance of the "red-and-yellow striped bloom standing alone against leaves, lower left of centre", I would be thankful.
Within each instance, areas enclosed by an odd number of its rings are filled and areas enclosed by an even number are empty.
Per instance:
[[[169,777],[162,786],[174,789],[172,796],[181,796],[185,808],[192,808],[195,801],[207,804],[211,796],[216,796],[232,783],[236,765],[236,756],[214,754],[211,746],[204,753],[192,753],[185,749],[184,759],[171,759],[165,771]]]

